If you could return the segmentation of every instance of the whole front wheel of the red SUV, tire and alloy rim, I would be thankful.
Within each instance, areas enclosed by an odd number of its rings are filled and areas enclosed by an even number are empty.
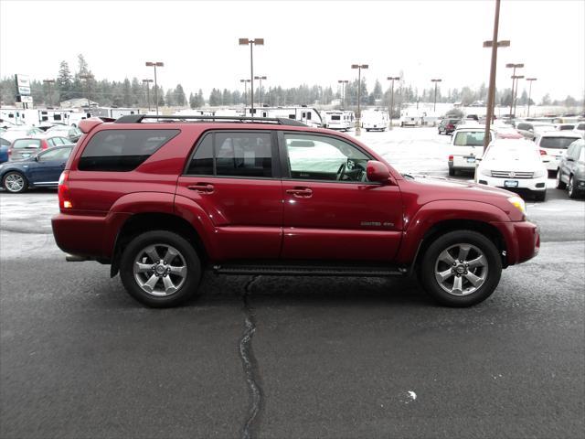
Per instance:
[[[441,305],[471,306],[494,293],[501,274],[494,243],[476,231],[457,230],[431,243],[422,257],[419,279]]]

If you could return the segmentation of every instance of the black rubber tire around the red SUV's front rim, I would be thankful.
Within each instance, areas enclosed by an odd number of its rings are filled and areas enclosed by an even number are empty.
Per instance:
[[[435,264],[438,264],[439,255],[457,244],[471,244],[483,252],[486,260],[487,274],[484,283],[470,294],[451,294],[443,290],[435,278]],[[472,253],[470,252],[470,254]],[[432,241],[429,248],[422,255],[418,274],[420,284],[422,284],[424,290],[439,304],[452,307],[471,306],[483,302],[494,293],[502,275],[502,260],[494,243],[483,234],[473,230],[456,230],[445,233],[435,241]]]

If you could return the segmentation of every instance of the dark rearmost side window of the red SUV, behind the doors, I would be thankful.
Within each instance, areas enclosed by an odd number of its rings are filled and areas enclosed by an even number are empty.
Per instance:
[[[180,130],[104,130],[83,150],[81,171],[132,171]]]

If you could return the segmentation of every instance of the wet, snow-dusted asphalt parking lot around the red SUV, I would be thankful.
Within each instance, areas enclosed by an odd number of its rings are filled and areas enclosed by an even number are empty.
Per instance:
[[[361,139],[447,175],[434,129]],[[540,254],[467,309],[409,279],[212,274],[148,309],[108,267],[65,262],[54,191],[1,193],[0,435],[583,437],[585,201],[553,185],[527,200]]]

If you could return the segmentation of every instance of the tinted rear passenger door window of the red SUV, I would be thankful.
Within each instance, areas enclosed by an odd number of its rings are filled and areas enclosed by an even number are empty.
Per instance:
[[[189,175],[272,177],[270,133],[207,134],[187,168]]]

